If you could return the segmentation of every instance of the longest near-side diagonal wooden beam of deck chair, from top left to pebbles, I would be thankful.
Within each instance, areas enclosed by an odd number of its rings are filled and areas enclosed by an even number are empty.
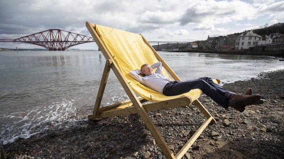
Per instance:
[[[152,122],[151,118],[149,117],[149,115],[147,114],[145,109],[142,107],[142,104],[138,100],[137,96],[133,92],[130,85],[127,83],[126,78],[123,76],[123,74],[118,69],[118,66],[116,65],[115,61],[113,61],[112,56],[110,55],[110,53],[108,52],[108,50],[106,49],[106,47],[102,43],[101,39],[99,38],[97,32],[93,28],[93,24],[91,24],[90,22],[86,22],[86,27],[88,28],[90,34],[93,36],[95,42],[97,43],[97,45],[101,49],[102,54],[104,55],[106,60],[110,59],[113,62],[113,65],[112,65],[111,68],[112,68],[114,74],[118,78],[118,81],[120,82],[120,84],[124,88],[126,94],[129,96],[129,99],[132,101],[134,107],[138,110],[139,115],[141,116],[142,120],[144,121],[145,125],[149,129],[149,131],[152,134],[152,136],[154,137],[154,139],[156,140],[156,143],[161,148],[161,151],[163,152],[163,154],[168,159],[175,158],[173,152],[169,149],[168,145],[166,144],[166,141],[161,136],[158,129],[155,127],[154,123]]]

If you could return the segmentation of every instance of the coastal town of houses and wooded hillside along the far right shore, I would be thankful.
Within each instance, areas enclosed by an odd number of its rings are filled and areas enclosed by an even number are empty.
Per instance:
[[[280,24],[283,25],[283,24]],[[177,47],[179,46],[179,47]],[[210,37],[206,40],[194,41],[187,44],[171,44],[169,48],[161,45],[159,51],[212,51],[212,52],[247,52],[247,51],[283,51],[284,34],[272,32],[259,35],[253,30],[245,30],[242,33],[229,34],[227,36]],[[154,46],[157,50],[157,45]]]

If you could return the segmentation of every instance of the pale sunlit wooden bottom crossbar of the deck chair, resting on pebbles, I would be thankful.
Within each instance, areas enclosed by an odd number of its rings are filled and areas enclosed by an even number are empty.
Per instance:
[[[197,131],[191,136],[191,138],[187,141],[187,143],[178,151],[175,155],[176,158],[180,159],[187,152],[187,150],[191,147],[191,145],[195,142],[195,140],[200,136],[202,131],[207,127],[210,121],[214,119],[212,116],[204,121],[204,123],[197,129]]]

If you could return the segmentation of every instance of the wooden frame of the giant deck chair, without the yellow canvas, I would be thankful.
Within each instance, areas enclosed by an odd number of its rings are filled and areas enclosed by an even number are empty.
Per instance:
[[[205,109],[205,107],[199,102],[198,99],[192,101],[192,98],[189,96],[180,96],[177,98],[172,98],[169,100],[163,100],[158,101],[154,103],[144,104],[143,102],[146,102],[148,100],[137,97],[132,89],[132,87],[127,82],[127,79],[125,75],[122,74],[120,71],[118,65],[116,64],[114,57],[111,56],[109,53],[107,47],[102,42],[102,39],[100,39],[100,34],[96,32],[96,24],[91,24],[90,22],[86,22],[86,27],[88,28],[90,34],[93,36],[95,42],[97,43],[98,47],[102,51],[102,54],[106,58],[106,64],[104,67],[104,72],[102,75],[102,80],[100,83],[100,87],[98,90],[93,114],[88,116],[88,119],[98,119],[98,118],[105,118],[110,116],[118,116],[118,115],[125,115],[125,114],[134,114],[138,113],[141,118],[143,119],[145,125],[149,129],[150,133],[154,137],[156,143],[160,147],[162,153],[166,156],[167,159],[171,158],[182,158],[184,154],[187,152],[187,150],[191,147],[191,145],[195,142],[195,140],[200,136],[202,131],[207,127],[207,125],[211,123],[216,123],[216,120],[212,117],[212,115]],[[100,26],[100,25],[99,25]],[[137,34],[138,35],[138,34]],[[140,34],[141,35],[141,34]],[[146,39],[141,35],[143,38],[143,41],[145,44],[150,47],[152,52],[155,54],[155,57],[157,60],[162,62],[162,66],[168,71],[168,73],[176,80],[181,81],[180,78],[177,77],[177,75],[171,70],[171,68],[166,64],[166,62],[161,58],[161,56],[154,50],[154,48],[146,41]],[[113,105],[109,105],[106,107],[100,108],[100,104],[102,101],[102,96],[104,93],[104,88],[106,86],[106,81],[109,75],[110,69],[113,70],[114,74],[118,78],[120,84],[124,88],[125,92],[129,96],[130,100],[126,100],[120,103],[116,103]],[[215,83],[220,83],[220,81]],[[199,94],[198,98],[201,94]],[[152,99],[152,97],[151,97]],[[159,133],[158,129],[155,127],[154,123],[152,122],[151,118],[147,114],[148,111],[155,111],[155,110],[161,110],[161,109],[168,109],[168,108],[174,108],[174,107],[183,107],[186,105],[190,105],[192,102],[194,102],[197,107],[200,109],[200,111],[204,114],[204,116],[207,118],[203,124],[199,127],[199,129],[191,136],[191,138],[184,144],[184,146],[180,149],[179,152],[176,153],[176,155],[173,154],[173,152],[169,149],[167,143],[165,142],[164,138]],[[118,109],[120,108],[120,109]]]

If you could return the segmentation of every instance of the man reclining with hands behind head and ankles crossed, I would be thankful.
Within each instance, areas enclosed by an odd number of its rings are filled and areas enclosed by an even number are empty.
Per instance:
[[[155,68],[157,68],[157,70],[154,73],[153,69]],[[146,87],[166,96],[175,96],[198,88],[223,108],[227,109],[230,106],[239,112],[244,112],[247,105],[253,105],[261,98],[258,94],[251,95],[251,88],[246,91],[245,95],[230,92],[214,83],[209,77],[184,82],[171,81],[161,74],[161,68],[161,62],[155,63],[152,66],[145,63],[141,66],[141,70],[133,70],[129,72],[129,75]],[[139,76],[139,74],[144,75],[144,77]]]

